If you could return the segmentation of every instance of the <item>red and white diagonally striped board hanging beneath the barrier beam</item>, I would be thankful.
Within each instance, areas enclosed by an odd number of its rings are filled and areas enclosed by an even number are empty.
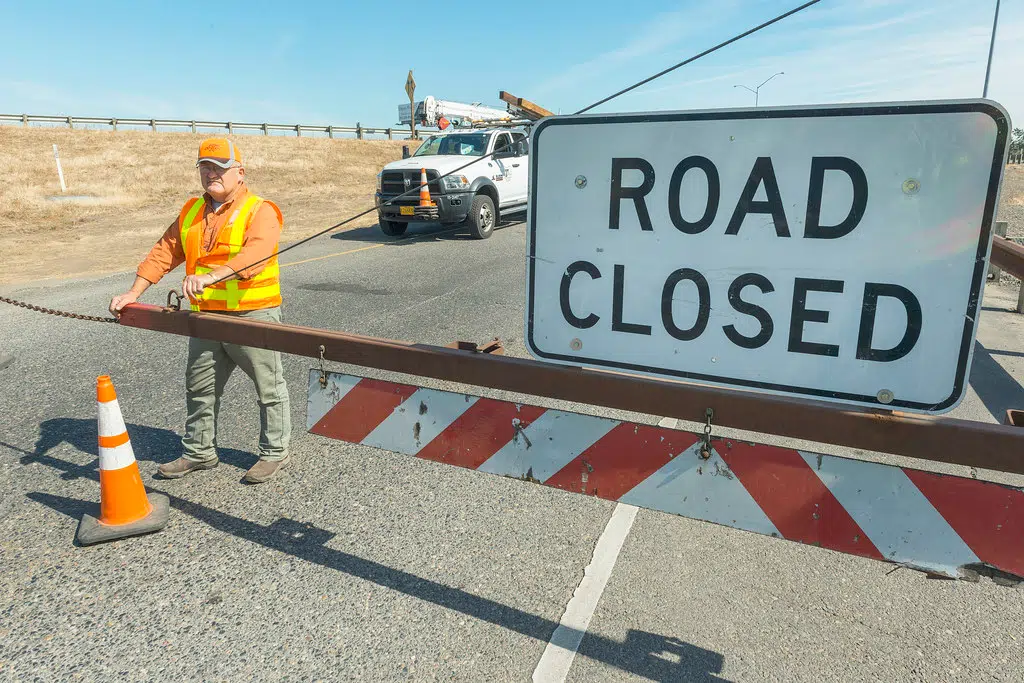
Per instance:
[[[314,434],[957,578],[1024,578],[1024,492],[469,394],[310,371]]]

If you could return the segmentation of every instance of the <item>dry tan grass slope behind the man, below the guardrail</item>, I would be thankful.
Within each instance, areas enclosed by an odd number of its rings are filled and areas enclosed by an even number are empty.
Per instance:
[[[0,126],[0,284],[134,268],[185,199],[202,191],[196,153],[207,136]],[[377,172],[401,158],[402,144],[418,144],[232,139],[249,186],[281,206],[286,242],[372,207]],[[54,143],[68,183],[63,197]],[[347,227],[375,222],[371,213]]]

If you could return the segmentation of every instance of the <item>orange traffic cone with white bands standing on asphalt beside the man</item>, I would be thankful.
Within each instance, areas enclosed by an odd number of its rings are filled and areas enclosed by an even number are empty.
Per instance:
[[[96,378],[99,422],[99,519],[84,515],[76,538],[82,545],[159,531],[167,525],[170,501],[146,494],[114,383]]]

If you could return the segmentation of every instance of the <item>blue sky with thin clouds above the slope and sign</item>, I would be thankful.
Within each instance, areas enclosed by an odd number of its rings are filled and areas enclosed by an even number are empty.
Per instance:
[[[417,98],[570,113],[800,0],[0,2],[0,113],[388,126]],[[1024,3],[988,95],[1024,127]],[[981,96],[994,0],[822,0],[598,111]],[[386,11],[386,15],[383,15]]]

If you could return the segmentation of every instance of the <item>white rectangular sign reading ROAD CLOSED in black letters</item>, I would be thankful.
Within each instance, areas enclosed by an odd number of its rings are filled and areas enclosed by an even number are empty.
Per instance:
[[[989,100],[544,120],[529,351],[947,412],[967,388],[1009,132]]]

